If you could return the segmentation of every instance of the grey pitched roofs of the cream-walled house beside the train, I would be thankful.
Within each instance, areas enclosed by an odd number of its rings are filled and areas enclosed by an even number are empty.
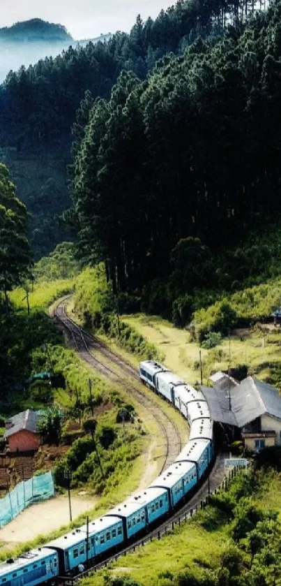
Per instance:
[[[227,374],[225,375],[227,376]],[[267,383],[248,376],[240,384],[229,388],[202,387],[211,413],[211,418],[220,423],[243,427],[262,415],[281,419],[281,397]]]

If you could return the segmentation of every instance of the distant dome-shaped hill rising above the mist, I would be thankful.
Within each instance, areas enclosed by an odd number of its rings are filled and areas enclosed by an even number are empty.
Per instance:
[[[16,22],[12,27],[0,29],[0,43],[38,41],[73,41],[72,36],[61,24],[46,22],[40,18]]]

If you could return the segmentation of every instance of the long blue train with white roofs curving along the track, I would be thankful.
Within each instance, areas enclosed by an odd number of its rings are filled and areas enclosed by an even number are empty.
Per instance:
[[[77,573],[107,552],[134,541],[157,525],[195,490],[213,459],[213,422],[202,393],[153,360],[139,365],[142,381],[179,409],[190,425],[190,438],[174,464],[151,483],[102,517],[50,541],[42,548],[0,564],[0,586],[38,586]],[[88,539],[87,539],[88,538]]]

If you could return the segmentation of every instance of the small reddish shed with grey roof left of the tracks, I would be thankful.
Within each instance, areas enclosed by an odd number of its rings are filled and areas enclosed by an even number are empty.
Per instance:
[[[36,411],[26,409],[6,421],[4,439],[6,439],[10,452],[36,452],[38,450],[41,444],[37,428],[38,420]]]

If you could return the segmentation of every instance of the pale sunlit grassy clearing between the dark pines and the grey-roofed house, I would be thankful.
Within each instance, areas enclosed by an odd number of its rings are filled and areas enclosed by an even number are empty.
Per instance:
[[[149,341],[165,353],[165,365],[183,376],[189,383],[200,381],[199,351],[197,342],[188,342],[187,330],[174,327],[169,321],[158,316],[144,314],[122,316],[123,321],[135,327]],[[242,335],[241,335],[242,334]],[[274,343],[273,343],[274,342]],[[281,365],[281,332],[269,333],[264,337],[258,330],[243,330],[231,335],[231,367],[247,364],[251,374],[261,380],[271,379],[271,365]],[[203,379],[216,370],[227,370],[229,366],[229,339],[222,340],[215,349],[202,351]]]

